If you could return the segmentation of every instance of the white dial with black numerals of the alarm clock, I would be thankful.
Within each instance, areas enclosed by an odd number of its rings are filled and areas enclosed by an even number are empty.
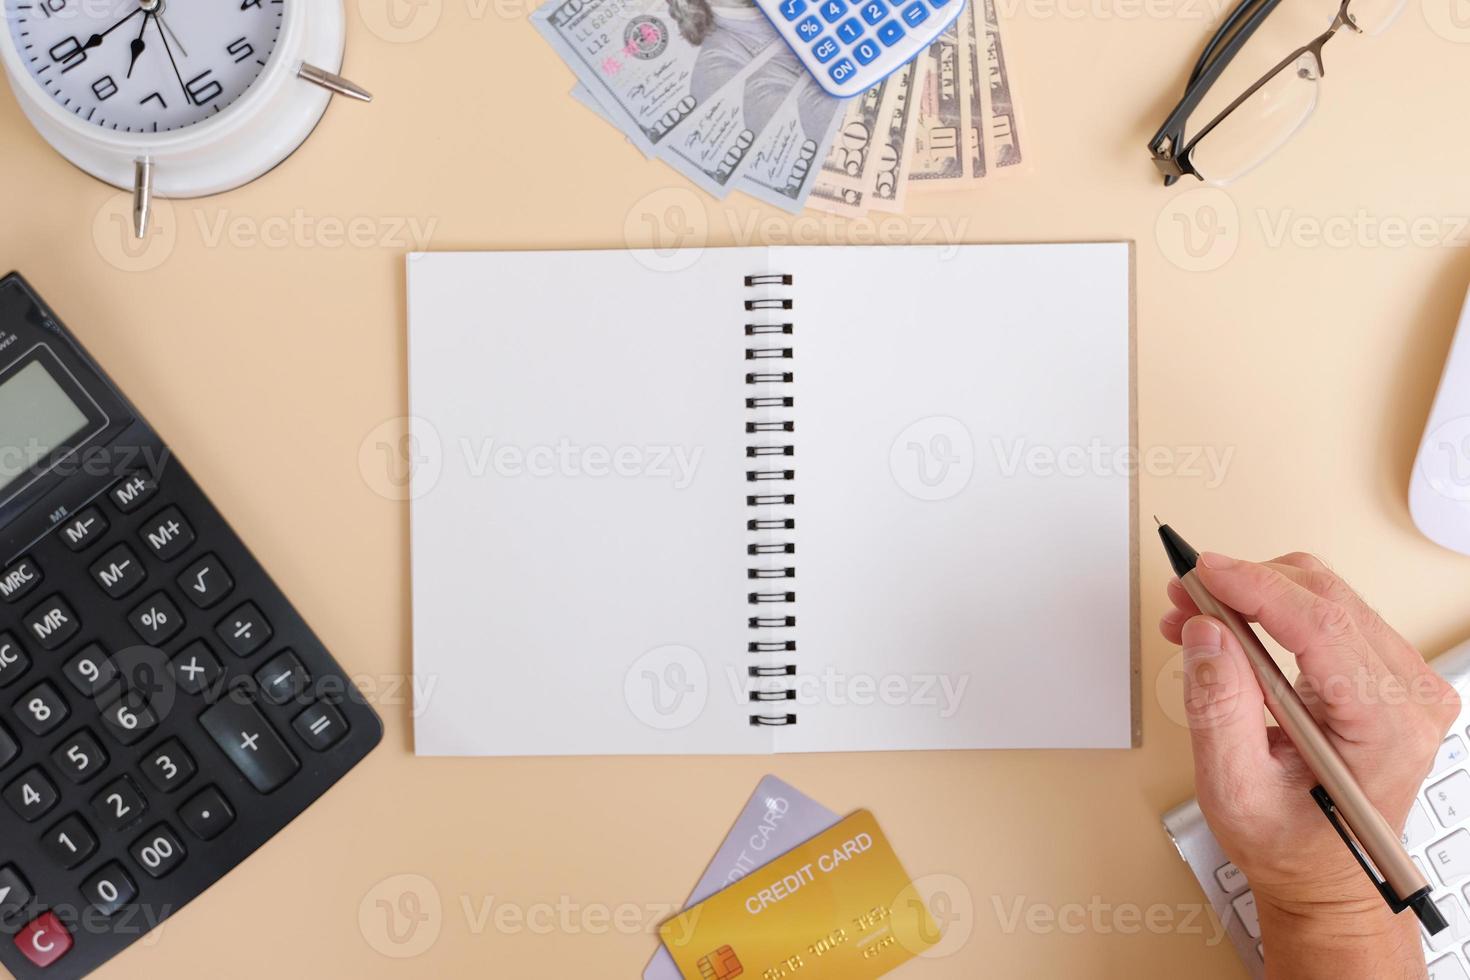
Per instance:
[[[270,60],[285,1],[3,0],[41,88],[119,132],[168,132],[223,112]]]

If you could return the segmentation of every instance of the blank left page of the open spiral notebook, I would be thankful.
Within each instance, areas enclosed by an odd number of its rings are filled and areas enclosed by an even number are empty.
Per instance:
[[[769,752],[744,669],[742,276],[409,260],[423,755]]]

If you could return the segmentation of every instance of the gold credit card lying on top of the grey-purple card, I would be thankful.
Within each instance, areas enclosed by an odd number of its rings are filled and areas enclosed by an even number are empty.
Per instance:
[[[685,980],[867,980],[939,940],[866,810],[675,915],[659,934]]]

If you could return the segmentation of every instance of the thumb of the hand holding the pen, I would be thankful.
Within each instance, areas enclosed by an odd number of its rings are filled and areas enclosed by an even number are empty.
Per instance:
[[[1270,763],[1261,688],[1239,641],[1219,620],[1191,619],[1182,645],[1195,779],[1229,796]]]

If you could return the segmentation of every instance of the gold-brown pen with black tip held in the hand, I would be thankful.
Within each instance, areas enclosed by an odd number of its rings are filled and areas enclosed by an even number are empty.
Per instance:
[[[1241,642],[1241,649],[1251,661],[1251,670],[1255,671],[1255,679],[1266,695],[1266,708],[1297,746],[1297,751],[1301,752],[1307,768],[1317,777],[1319,785],[1313,788],[1311,798],[1326,814],[1342,842],[1348,845],[1358,867],[1369,876],[1395,914],[1405,908],[1414,909],[1430,936],[1448,929],[1449,924],[1429,898],[1429,882],[1408,857],[1402,839],[1363,792],[1358,780],[1352,777],[1352,770],[1342,761],[1342,755],[1333,748],[1327,733],[1311,717],[1301,695],[1297,693],[1297,688],[1286,680],[1286,674],[1272,660],[1251,624],[1204,588],[1204,582],[1195,572],[1200,552],[1191,548],[1173,527],[1157,517],[1154,520],[1158,522],[1158,536],[1169,554],[1169,564],[1175,567],[1175,574],[1179,576],[1185,592],[1189,594],[1201,613],[1220,620]]]

